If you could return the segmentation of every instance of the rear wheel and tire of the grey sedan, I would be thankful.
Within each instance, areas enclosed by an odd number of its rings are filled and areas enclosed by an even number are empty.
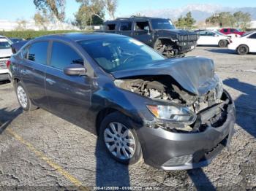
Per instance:
[[[21,84],[21,82],[18,82],[15,85],[15,92],[16,92],[20,106],[25,111],[30,112],[30,111],[37,109],[37,106],[34,106],[34,104],[32,104],[31,99],[29,98],[28,93],[26,93],[26,89]]]

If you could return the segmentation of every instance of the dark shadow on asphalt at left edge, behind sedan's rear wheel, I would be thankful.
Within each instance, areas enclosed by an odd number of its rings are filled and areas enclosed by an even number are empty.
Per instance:
[[[8,110],[6,107],[0,109],[0,134],[8,127],[10,122],[18,117],[19,114],[23,112],[23,109],[17,108]]]

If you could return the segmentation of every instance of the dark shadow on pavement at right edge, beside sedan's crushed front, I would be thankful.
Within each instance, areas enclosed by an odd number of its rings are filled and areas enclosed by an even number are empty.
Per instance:
[[[236,123],[256,138],[256,86],[236,78],[225,79],[223,83],[243,93],[236,98]]]

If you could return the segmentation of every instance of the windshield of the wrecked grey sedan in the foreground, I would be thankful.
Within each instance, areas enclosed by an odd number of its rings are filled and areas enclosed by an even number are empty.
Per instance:
[[[97,39],[79,44],[108,72],[133,69],[165,59],[151,47],[130,38]]]

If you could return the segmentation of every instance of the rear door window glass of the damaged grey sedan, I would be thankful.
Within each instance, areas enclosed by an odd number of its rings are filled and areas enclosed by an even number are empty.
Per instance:
[[[29,47],[29,61],[34,61],[35,63],[47,64],[47,50],[48,42],[35,42]],[[26,52],[25,56],[26,56]],[[26,57],[25,57],[26,58]]]

